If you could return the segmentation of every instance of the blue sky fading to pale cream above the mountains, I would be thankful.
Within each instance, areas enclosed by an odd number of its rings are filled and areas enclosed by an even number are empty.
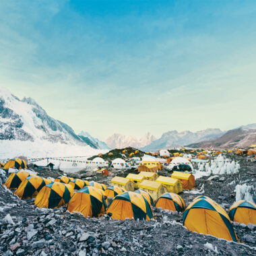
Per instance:
[[[255,123],[255,1],[0,1],[0,84],[77,133]]]

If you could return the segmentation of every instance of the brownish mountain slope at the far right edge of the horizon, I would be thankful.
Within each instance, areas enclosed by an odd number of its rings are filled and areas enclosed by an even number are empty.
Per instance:
[[[191,143],[191,148],[239,148],[256,143],[256,123],[244,125],[224,133],[217,139]]]

